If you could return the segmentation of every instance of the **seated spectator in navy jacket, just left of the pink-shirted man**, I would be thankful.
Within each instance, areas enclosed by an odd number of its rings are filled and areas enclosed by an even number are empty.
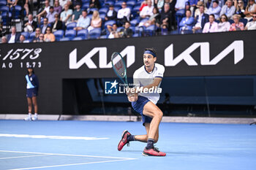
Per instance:
[[[208,20],[209,15],[204,12],[205,11],[204,5],[199,7],[199,11],[200,11],[200,14],[197,15],[197,17],[195,18],[195,26],[192,29],[194,33],[201,33],[203,31],[203,27],[209,21]]]

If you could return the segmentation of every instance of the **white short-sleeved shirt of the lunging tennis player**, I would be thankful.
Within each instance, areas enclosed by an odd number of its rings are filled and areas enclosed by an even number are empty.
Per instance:
[[[164,77],[165,66],[162,66],[159,63],[154,63],[154,69],[151,72],[147,72],[145,66],[141,66],[140,69],[137,69],[133,74],[133,83],[135,88],[143,87],[153,83],[155,77]],[[160,86],[161,82],[158,85]],[[148,98],[154,104],[157,104],[157,101],[160,98],[159,93],[138,93],[139,96]]]

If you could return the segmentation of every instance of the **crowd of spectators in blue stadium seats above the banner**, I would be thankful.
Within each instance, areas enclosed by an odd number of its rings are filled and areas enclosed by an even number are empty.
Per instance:
[[[255,30],[255,1],[0,0],[1,43]]]

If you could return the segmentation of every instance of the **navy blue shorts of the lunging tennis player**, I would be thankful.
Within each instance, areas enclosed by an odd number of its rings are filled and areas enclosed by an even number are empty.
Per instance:
[[[148,103],[148,101],[149,101],[148,98],[143,96],[138,96],[138,100],[135,102],[132,102],[132,108],[135,109],[135,111],[140,113],[140,115],[142,116],[143,125],[145,125],[145,123],[151,123],[151,120],[152,120],[151,117],[143,115],[143,108],[145,104]]]

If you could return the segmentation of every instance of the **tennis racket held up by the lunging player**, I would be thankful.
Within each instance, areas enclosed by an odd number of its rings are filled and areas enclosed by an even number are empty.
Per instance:
[[[127,66],[124,63],[124,58],[120,53],[114,52],[111,55],[111,63],[113,66],[113,70],[118,76],[118,78],[124,82],[124,85],[129,88],[128,82],[127,82]]]

